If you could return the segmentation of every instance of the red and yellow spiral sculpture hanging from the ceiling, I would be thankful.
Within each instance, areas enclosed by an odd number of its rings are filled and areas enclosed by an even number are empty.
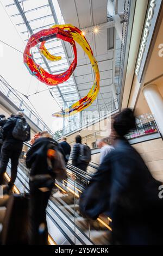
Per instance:
[[[47,48],[45,47],[45,43],[47,40],[57,38],[67,42],[70,42],[73,48],[74,59],[71,63],[70,67],[60,74],[49,74],[45,69],[43,69],[39,64],[37,64],[32,54],[30,53],[30,48],[36,46],[41,42],[39,47],[40,53],[42,56],[46,57],[48,60],[51,61],[58,61],[61,59],[61,56],[53,56],[51,53],[48,52]],[[57,84],[63,83],[70,78],[73,71],[76,69],[77,66],[77,48],[76,42],[83,48],[84,52],[90,59],[93,72],[95,74],[95,81],[93,83],[92,88],[90,89],[89,93],[84,96],[79,101],[73,103],[70,107],[66,108],[64,111],[60,111],[57,113],[52,114],[53,117],[68,117],[69,115],[76,114],[83,109],[89,107],[92,102],[96,99],[97,94],[99,92],[99,70],[98,64],[93,56],[93,52],[89,43],[87,42],[83,32],[80,31],[79,28],[74,27],[72,25],[54,25],[51,28],[43,29],[40,32],[37,32],[30,36],[27,46],[23,53],[24,64],[27,66],[30,74],[35,76],[41,82],[47,84],[48,86],[55,86]]]

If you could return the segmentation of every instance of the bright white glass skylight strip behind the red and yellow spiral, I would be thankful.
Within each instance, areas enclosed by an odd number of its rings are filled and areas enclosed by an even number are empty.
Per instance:
[[[27,42],[30,35],[40,31],[43,28],[49,28],[54,24],[64,24],[63,17],[57,0],[7,0],[5,8],[11,16],[13,23],[16,25],[22,39]],[[62,59],[58,62],[51,62],[43,58],[38,47],[32,48],[33,58],[35,62],[42,66],[51,74],[59,74],[66,71],[70,62],[67,58],[67,53],[64,47],[65,42],[52,39],[46,42],[47,50],[55,56],[61,56]],[[73,76],[66,82],[58,86],[48,87],[50,92],[57,99],[61,108],[70,106],[78,100],[78,93]]]

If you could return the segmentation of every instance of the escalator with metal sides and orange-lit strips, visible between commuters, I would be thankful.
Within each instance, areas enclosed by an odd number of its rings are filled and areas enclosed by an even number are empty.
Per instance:
[[[26,151],[29,148],[26,143]],[[26,154],[23,151],[18,164],[14,190],[29,192],[29,169],[26,168]],[[97,169],[97,166],[91,163]],[[10,176],[10,163],[7,174]],[[58,245],[108,245],[111,222],[108,216],[99,216],[96,221],[87,220],[80,215],[79,197],[89,184],[92,174],[67,163],[67,179],[55,182],[49,199],[47,224],[49,237]]]

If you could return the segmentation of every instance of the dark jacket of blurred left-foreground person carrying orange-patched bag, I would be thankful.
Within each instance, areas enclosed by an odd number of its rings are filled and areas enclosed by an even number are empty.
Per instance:
[[[49,174],[47,164],[47,146],[53,144],[57,147],[58,143],[52,138],[39,138],[35,141],[26,155],[26,165],[31,168],[30,175]]]

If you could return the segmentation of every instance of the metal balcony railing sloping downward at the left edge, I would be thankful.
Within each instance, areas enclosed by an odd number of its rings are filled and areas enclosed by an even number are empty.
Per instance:
[[[41,131],[47,130],[53,135],[53,132],[49,127],[43,122],[43,120],[37,115],[32,108],[16,93],[16,91],[9,85],[7,81],[0,75],[0,92],[4,94],[18,109],[23,109],[24,114],[33,123],[39,127]]]

